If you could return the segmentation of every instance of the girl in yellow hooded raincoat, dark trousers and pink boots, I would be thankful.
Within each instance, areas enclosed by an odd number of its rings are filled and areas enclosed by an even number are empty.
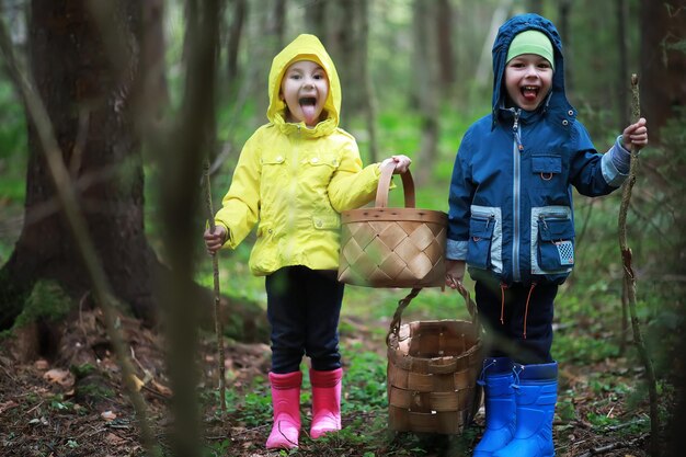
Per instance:
[[[250,256],[265,276],[272,325],[274,424],[267,448],[293,448],[300,432],[300,363],[311,361],[310,437],[341,429],[338,324],[343,284],[339,266],[340,213],[370,202],[380,164],[362,167],[353,136],[339,128],[341,84],[327,50],[300,35],[272,62],[268,124],[241,151],[229,192],[205,231],[210,253],[235,249],[258,224]],[[393,156],[396,173],[410,165]]]

